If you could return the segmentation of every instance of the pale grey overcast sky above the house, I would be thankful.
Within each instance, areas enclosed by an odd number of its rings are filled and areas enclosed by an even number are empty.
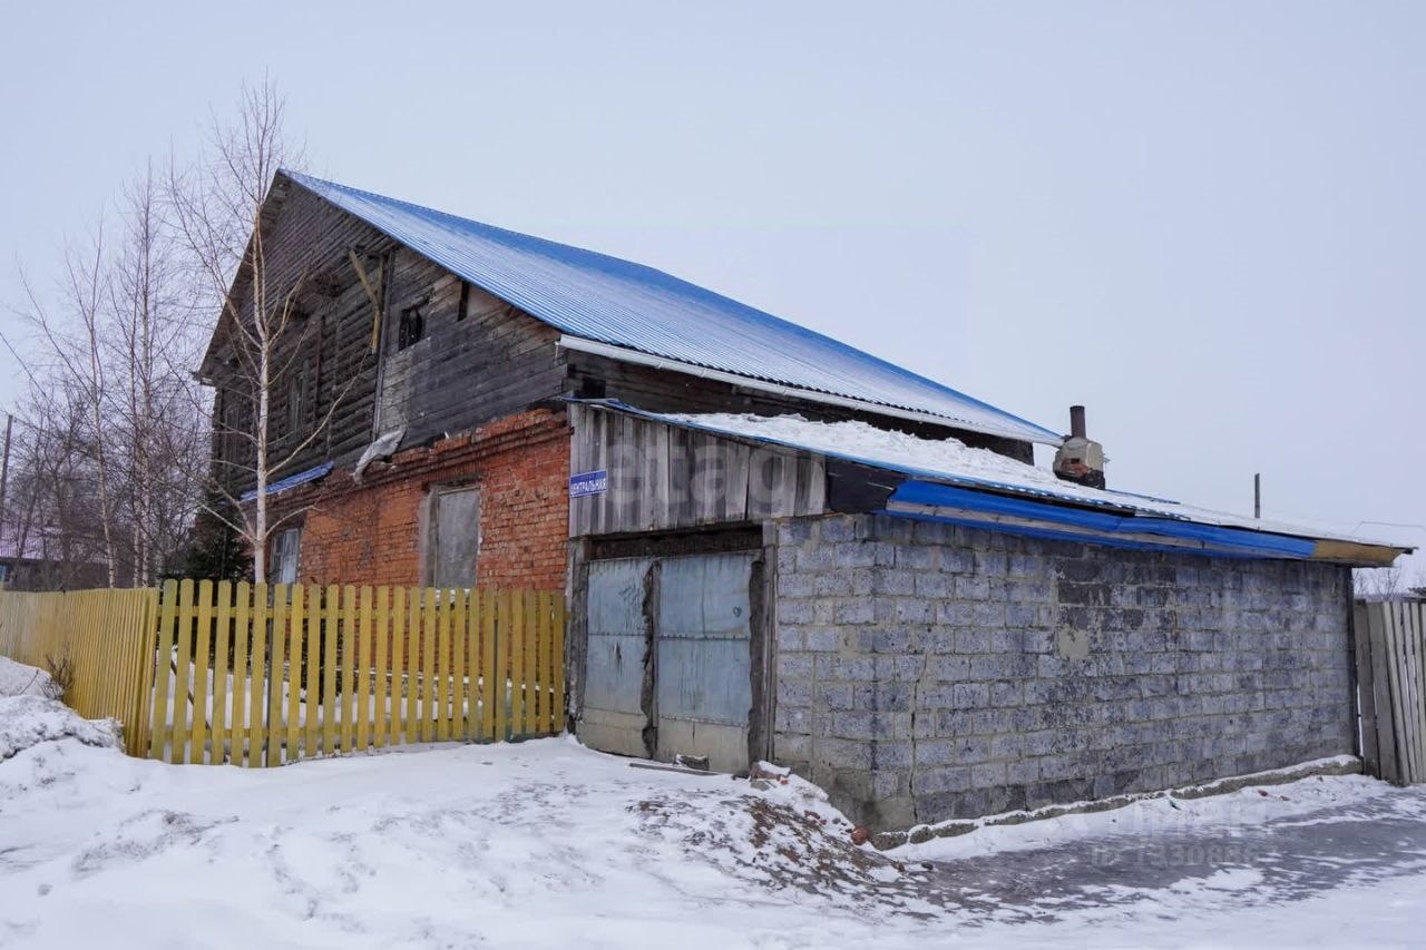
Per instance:
[[[1426,3],[80,6],[3,4],[0,302],[268,71],[318,174],[1426,545]]]

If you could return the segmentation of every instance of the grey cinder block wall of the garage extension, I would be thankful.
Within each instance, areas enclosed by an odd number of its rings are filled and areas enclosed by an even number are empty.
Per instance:
[[[774,755],[874,827],[1353,752],[1349,572],[781,522]]]

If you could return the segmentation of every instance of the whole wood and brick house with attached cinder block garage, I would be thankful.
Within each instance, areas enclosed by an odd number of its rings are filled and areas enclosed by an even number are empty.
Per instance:
[[[262,221],[308,327],[275,439],[317,434],[278,579],[566,589],[590,746],[878,827],[1355,750],[1350,568],[1405,548],[1099,488],[1082,415],[647,267],[292,173]],[[222,325],[202,372],[244,425]]]

